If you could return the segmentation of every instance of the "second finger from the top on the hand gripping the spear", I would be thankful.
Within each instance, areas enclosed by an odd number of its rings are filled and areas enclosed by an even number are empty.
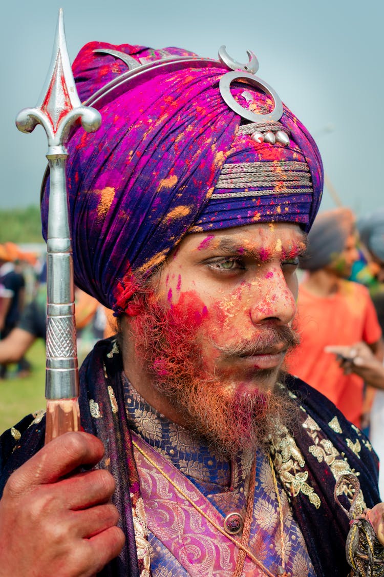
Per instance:
[[[56,501],[67,509],[86,509],[106,503],[115,491],[115,479],[104,469],[85,471],[50,485],[57,491]]]

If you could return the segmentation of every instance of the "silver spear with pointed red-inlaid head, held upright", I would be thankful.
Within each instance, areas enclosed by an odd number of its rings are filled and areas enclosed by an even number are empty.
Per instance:
[[[68,222],[65,165],[66,140],[71,126],[81,119],[86,132],[101,124],[100,113],[82,106],[71,70],[59,10],[54,51],[42,95],[36,108],[18,113],[16,126],[32,132],[37,124],[48,137],[50,203],[47,238],[47,368],[45,443],[70,430],[79,430],[79,377],[76,347],[73,258]]]

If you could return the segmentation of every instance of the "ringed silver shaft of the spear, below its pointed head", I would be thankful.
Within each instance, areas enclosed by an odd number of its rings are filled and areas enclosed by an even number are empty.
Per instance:
[[[53,151],[52,151],[53,152]],[[66,152],[47,155],[50,164],[47,273],[47,428],[45,443],[79,430],[79,376],[76,347],[73,258],[68,223]]]

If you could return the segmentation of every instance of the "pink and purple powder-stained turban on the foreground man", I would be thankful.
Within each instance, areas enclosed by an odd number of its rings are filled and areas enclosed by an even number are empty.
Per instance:
[[[320,153],[284,106],[287,147],[258,143],[223,100],[225,65],[163,66],[145,81],[119,78],[128,65],[195,57],[179,48],[153,50],[92,42],[73,65],[79,96],[100,110],[96,133],[74,130],[67,148],[67,188],[75,283],[124,312],[134,278],[161,264],[185,234],[260,222],[294,222],[309,230],[322,191]],[[115,88],[97,99],[108,83]],[[105,88],[104,88],[105,89]],[[246,91],[246,93],[245,93]],[[270,111],[273,100],[242,82],[231,93],[242,106]],[[265,113],[263,113],[265,114]],[[42,200],[47,234],[48,183]]]

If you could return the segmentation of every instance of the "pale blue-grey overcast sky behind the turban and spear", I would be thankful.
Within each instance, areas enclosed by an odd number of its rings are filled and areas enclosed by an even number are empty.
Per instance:
[[[254,51],[258,76],[317,140],[343,204],[358,214],[384,205],[384,2],[18,0],[2,8],[0,208],[39,201],[47,139],[40,126],[18,132],[14,118],[37,103],[60,7],[71,61],[91,40],[182,46],[212,58],[226,44],[238,61]],[[333,206],[325,190],[322,209]]]

